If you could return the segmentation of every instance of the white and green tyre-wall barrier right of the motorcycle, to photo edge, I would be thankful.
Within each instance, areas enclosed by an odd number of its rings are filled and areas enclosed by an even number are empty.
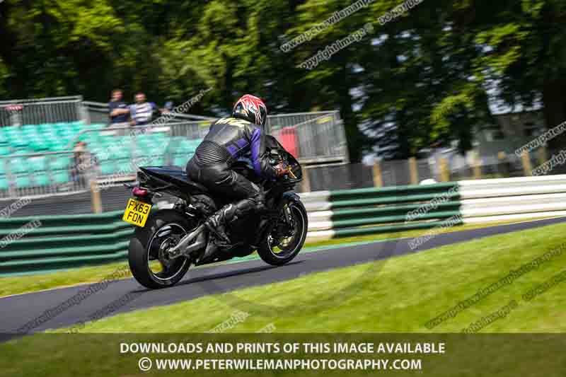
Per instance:
[[[433,228],[452,216],[461,220],[451,224],[566,216],[566,175],[309,192],[301,199],[308,239],[321,240]],[[407,217],[418,208],[429,210]]]

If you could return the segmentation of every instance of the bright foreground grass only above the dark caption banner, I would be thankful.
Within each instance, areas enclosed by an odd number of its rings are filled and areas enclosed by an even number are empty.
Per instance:
[[[502,279],[510,270],[559,248],[565,243],[565,233],[566,224],[558,224],[473,240],[115,315],[87,323],[82,330],[206,332],[240,311],[249,316],[227,332],[256,332],[269,324],[277,332],[431,332],[424,326],[428,320]],[[529,302],[521,299],[533,286],[565,269],[565,262],[566,253],[553,257],[432,332],[460,332],[512,299],[519,306],[482,332],[565,332],[563,286],[555,286]]]

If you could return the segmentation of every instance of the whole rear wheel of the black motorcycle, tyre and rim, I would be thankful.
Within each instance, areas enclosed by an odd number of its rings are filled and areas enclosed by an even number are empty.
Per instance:
[[[129,241],[129,269],[139,284],[159,289],[173,286],[187,273],[190,260],[169,259],[165,251],[178,243],[197,224],[192,224],[178,211],[163,209],[147,219],[144,228],[136,228]]]

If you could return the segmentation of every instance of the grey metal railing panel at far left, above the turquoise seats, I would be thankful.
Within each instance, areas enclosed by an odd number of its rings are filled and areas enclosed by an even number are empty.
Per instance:
[[[80,95],[0,101],[0,127],[79,120],[88,122]]]

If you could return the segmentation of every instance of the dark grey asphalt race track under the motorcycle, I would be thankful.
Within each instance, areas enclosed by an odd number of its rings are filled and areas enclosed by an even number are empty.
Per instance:
[[[152,306],[165,306],[193,298],[219,294],[247,286],[258,286],[294,279],[304,274],[325,271],[339,267],[357,265],[363,262],[384,260],[389,257],[438,248],[439,246],[461,243],[475,238],[495,236],[497,234],[521,231],[539,226],[566,222],[566,217],[529,221],[517,224],[492,226],[439,234],[426,243],[411,250],[408,245],[410,238],[386,240],[376,243],[347,245],[311,253],[300,253],[295,260],[282,267],[266,265],[261,260],[249,260],[226,265],[211,265],[190,269],[187,276],[176,286],[168,289],[148,290],[140,286],[134,279],[123,279],[111,282],[105,289],[84,298],[78,304],[70,306],[61,313],[48,315],[33,326],[28,326],[25,332],[37,332],[46,329],[69,327],[86,321],[94,313],[100,313],[108,306],[114,308],[114,303],[126,297],[125,305],[109,313],[115,315],[135,311]],[[497,245],[494,245],[497,248]],[[23,276],[22,279],[33,279],[33,275]],[[83,291],[88,284],[71,286],[62,289],[52,289],[30,294],[21,294],[0,298],[0,341],[8,340],[22,334],[22,326],[39,318],[45,311],[62,306],[62,303]],[[33,327],[33,328],[30,328]]]

